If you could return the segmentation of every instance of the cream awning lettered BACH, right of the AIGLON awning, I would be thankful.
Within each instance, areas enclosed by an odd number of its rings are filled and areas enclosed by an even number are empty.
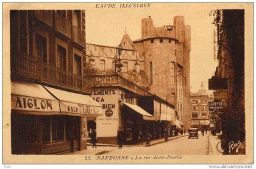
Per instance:
[[[48,86],[44,86],[44,88],[59,100],[61,114],[71,116],[102,115],[102,106],[89,95],[62,91]]]

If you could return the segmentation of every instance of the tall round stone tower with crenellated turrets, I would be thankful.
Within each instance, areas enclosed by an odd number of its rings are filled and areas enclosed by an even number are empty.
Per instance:
[[[176,105],[176,118],[191,126],[190,26],[175,16],[173,26],[155,27],[151,16],[141,19],[141,39],[133,41],[144,57],[150,91]]]

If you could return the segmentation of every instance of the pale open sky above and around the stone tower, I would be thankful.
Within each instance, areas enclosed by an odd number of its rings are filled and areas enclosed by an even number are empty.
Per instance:
[[[98,4],[100,5],[100,4]],[[118,4],[116,4],[119,6]],[[218,9],[213,4],[151,3],[144,9],[96,9],[90,4],[86,9],[87,43],[118,46],[127,29],[132,40],[141,38],[141,19],[151,16],[154,26],[173,24],[177,15],[185,17],[191,26],[190,84],[191,92],[197,92],[201,82],[208,89],[208,78],[214,75],[217,61],[213,56],[213,18],[210,10]],[[212,91],[208,91],[212,93]]]

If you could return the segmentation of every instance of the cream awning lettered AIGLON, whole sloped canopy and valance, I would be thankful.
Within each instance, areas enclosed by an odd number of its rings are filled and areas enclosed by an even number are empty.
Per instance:
[[[11,82],[12,112],[19,114],[60,114],[59,101],[40,84]]]

